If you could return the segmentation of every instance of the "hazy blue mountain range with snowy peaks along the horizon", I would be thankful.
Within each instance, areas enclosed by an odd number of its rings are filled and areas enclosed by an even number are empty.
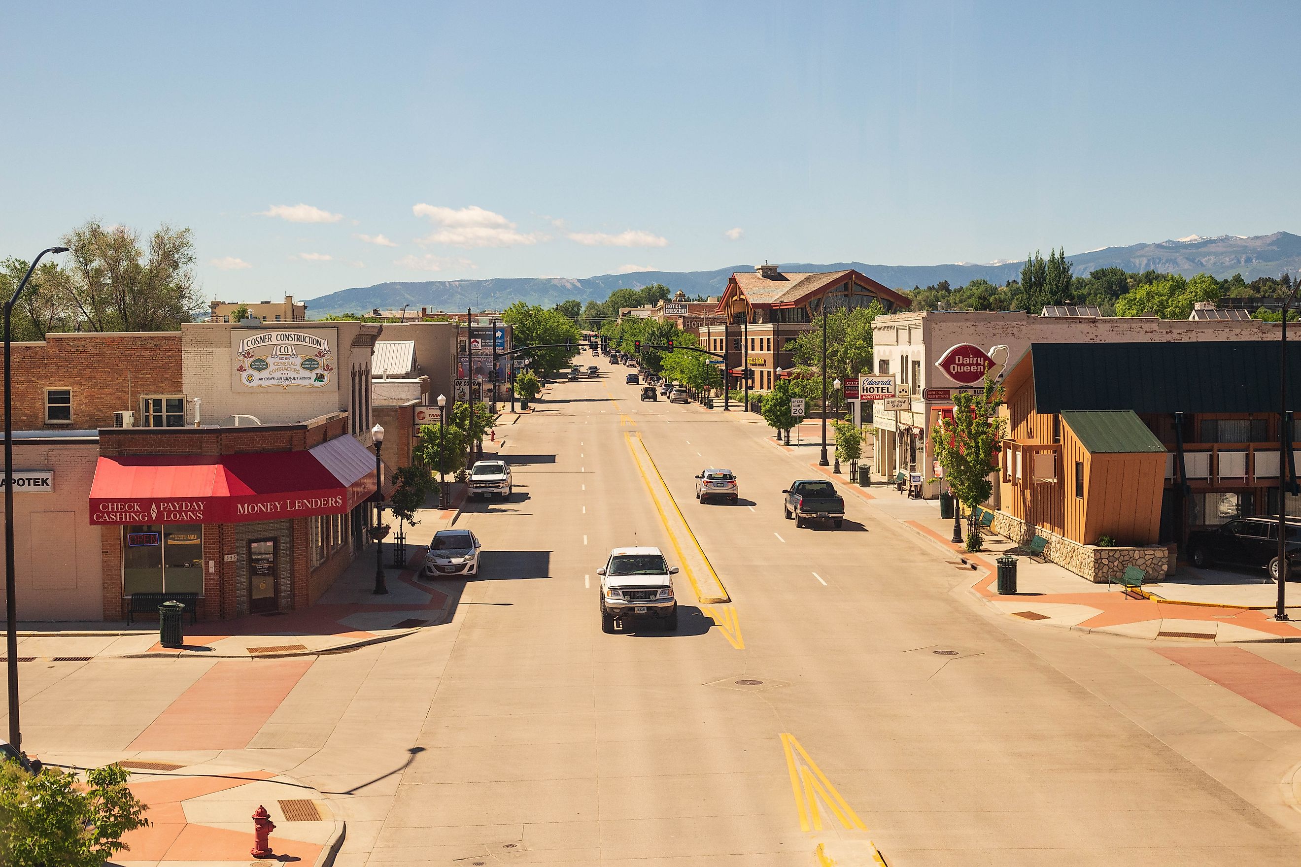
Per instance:
[[[1138,243],[1128,247],[1103,247],[1068,255],[1073,273],[1088,274],[1098,268],[1121,268],[1129,272],[1160,270],[1190,277],[1206,272],[1215,277],[1242,274],[1246,281],[1278,277],[1283,272],[1301,270],[1301,237],[1288,231],[1271,235],[1190,235],[1177,240]],[[963,286],[982,278],[1004,283],[1021,273],[1021,261],[998,261],[985,265],[954,263],[948,265],[868,265],[865,263],[783,263],[783,272],[842,270],[853,268],[892,289],[929,286],[947,279]],[[403,304],[437,311],[502,309],[514,302],[550,307],[576,298],[580,302],[605,300],[615,289],[639,289],[664,283],[690,296],[719,295],[727,277],[736,270],[753,270],[753,265],[731,265],[717,270],[641,270],[628,274],[597,277],[514,277],[493,279],[451,279],[425,282],[376,283],[343,289],[307,300],[310,318],[332,313],[364,313],[373,308],[399,309]]]

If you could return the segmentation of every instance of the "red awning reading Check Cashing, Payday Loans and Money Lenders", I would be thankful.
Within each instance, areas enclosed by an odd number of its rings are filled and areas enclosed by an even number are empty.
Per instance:
[[[373,491],[375,456],[351,437],[310,451],[100,456],[90,523],[242,524],[341,515]]]

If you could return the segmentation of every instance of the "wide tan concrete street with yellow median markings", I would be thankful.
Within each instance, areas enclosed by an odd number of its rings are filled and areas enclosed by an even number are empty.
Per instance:
[[[866,498],[840,530],[783,520],[816,450],[597,364],[498,429],[516,493],[457,519],[487,550],[435,582],[451,623],[337,655],[29,663],[29,751],[285,775],[346,822],[346,867],[1294,863],[1296,645],[999,615]],[[695,500],[706,467],[736,504]],[[683,567],[675,634],[602,634],[622,545]]]

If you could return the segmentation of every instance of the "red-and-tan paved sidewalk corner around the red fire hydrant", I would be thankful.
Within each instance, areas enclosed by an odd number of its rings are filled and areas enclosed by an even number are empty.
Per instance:
[[[150,825],[124,837],[127,849],[113,864],[248,863],[260,827],[271,850],[263,861],[320,867],[346,833],[325,796],[291,776],[216,763],[121,764],[134,768],[127,785],[148,805]],[[154,770],[164,766],[172,770]]]

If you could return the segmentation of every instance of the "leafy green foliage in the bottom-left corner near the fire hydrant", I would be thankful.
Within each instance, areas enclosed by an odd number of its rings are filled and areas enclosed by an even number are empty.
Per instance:
[[[56,768],[31,775],[0,762],[0,864],[101,867],[127,848],[125,833],[150,824],[127,776],[109,764],[82,783]]]

